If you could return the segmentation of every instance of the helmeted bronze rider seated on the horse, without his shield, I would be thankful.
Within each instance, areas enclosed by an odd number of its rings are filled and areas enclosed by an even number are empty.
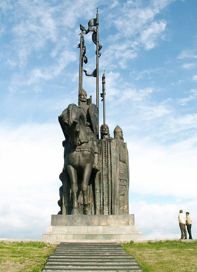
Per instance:
[[[95,105],[96,106],[96,105]],[[89,105],[87,104],[87,92],[82,88],[79,92],[79,105],[78,108],[83,112],[86,121],[86,132],[92,139],[93,149],[94,149],[94,165],[93,169],[98,171],[98,141],[96,138],[96,130],[93,129],[93,124],[90,118]],[[97,115],[96,113],[93,113]]]

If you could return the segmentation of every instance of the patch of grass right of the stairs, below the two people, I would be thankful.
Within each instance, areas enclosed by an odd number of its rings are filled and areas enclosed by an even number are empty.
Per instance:
[[[197,242],[165,241],[122,244],[146,272],[196,272]]]

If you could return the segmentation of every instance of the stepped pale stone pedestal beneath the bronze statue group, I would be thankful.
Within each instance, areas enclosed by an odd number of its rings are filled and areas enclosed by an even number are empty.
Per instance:
[[[124,215],[52,215],[51,226],[42,240],[60,242],[130,242],[141,240],[134,214]]]

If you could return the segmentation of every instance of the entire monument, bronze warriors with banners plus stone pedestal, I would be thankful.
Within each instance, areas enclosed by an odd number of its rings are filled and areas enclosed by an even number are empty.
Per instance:
[[[59,116],[65,139],[64,164],[59,179],[58,214],[52,214],[51,225],[43,241],[60,242],[130,242],[142,239],[134,214],[129,214],[129,161],[122,129],[114,128],[114,138],[105,120],[105,71],[102,76],[103,124],[99,135],[99,57],[102,45],[98,37],[97,16],[80,25],[80,61],[78,105],[70,104]],[[94,28],[95,27],[95,28]],[[96,69],[88,74],[84,36],[92,32],[96,45]],[[96,104],[83,89],[83,71],[96,77]],[[77,94],[76,94],[77,97]],[[100,136],[100,137],[99,137]],[[111,135],[112,136],[112,135]]]

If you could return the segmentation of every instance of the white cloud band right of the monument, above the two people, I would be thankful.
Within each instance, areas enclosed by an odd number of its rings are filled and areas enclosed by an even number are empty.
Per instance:
[[[144,138],[127,141],[132,191],[138,194],[196,197],[197,138],[163,147]],[[185,191],[189,181],[192,190]]]

